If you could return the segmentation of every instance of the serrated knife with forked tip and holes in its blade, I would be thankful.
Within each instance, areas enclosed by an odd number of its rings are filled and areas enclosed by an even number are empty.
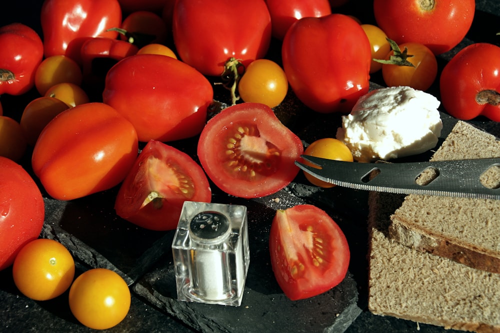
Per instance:
[[[298,167],[320,180],[339,186],[401,194],[500,199],[500,188],[486,187],[480,179],[486,170],[500,167],[500,158],[361,163],[308,155],[301,157],[315,166],[295,161]],[[430,182],[423,184],[418,178],[422,172],[427,172],[425,170],[431,170],[433,176]],[[500,184],[500,179],[493,180]]]

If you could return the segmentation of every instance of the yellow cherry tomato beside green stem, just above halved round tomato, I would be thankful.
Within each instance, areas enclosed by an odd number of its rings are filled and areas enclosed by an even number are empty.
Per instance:
[[[284,70],[274,61],[257,59],[246,67],[238,83],[239,96],[245,102],[266,104],[281,103],[288,91]]]

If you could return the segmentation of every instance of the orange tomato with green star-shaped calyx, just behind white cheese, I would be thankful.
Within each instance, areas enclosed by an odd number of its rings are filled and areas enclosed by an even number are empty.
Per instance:
[[[406,48],[405,58],[413,66],[400,64],[382,64],[382,76],[387,86],[410,86],[413,89],[427,90],[434,82],[437,75],[437,60],[432,51],[420,43],[402,43],[398,45],[401,52]],[[397,49],[396,49],[397,50]],[[395,51],[390,51],[386,58],[389,59]],[[397,56],[400,58],[400,55]]]

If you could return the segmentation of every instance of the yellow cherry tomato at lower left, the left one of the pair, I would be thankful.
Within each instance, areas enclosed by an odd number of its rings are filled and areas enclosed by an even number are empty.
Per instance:
[[[12,276],[15,285],[26,297],[52,299],[66,291],[73,282],[74,260],[58,241],[38,238],[17,253]]]

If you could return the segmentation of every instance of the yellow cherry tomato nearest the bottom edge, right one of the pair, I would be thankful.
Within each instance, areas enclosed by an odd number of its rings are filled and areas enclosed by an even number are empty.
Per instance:
[[[128,313],[130,290],[114,271],[93,268],[79,275],[69,288],[69,308],[87,327],[110,328]]]

